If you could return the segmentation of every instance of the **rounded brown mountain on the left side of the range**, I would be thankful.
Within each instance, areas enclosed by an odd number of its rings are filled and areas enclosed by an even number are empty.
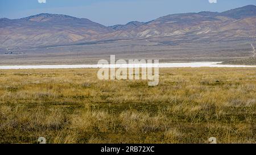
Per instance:
[[[67,15],[39,14],[22,19],[0,19],[0,42],[8,47],[68,44],[95,40],[111,28]]]

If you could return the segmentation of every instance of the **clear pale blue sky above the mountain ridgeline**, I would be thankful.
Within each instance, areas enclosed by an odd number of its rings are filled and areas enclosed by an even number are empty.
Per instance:
[[[38,1],[46,1],[39,3]],[[209,3],[217,1],[217,3]],[[23,18],[40,13],[88,18],[106,26],[184,12],[226,11],[255,0],[0,0],[0,18]]]

